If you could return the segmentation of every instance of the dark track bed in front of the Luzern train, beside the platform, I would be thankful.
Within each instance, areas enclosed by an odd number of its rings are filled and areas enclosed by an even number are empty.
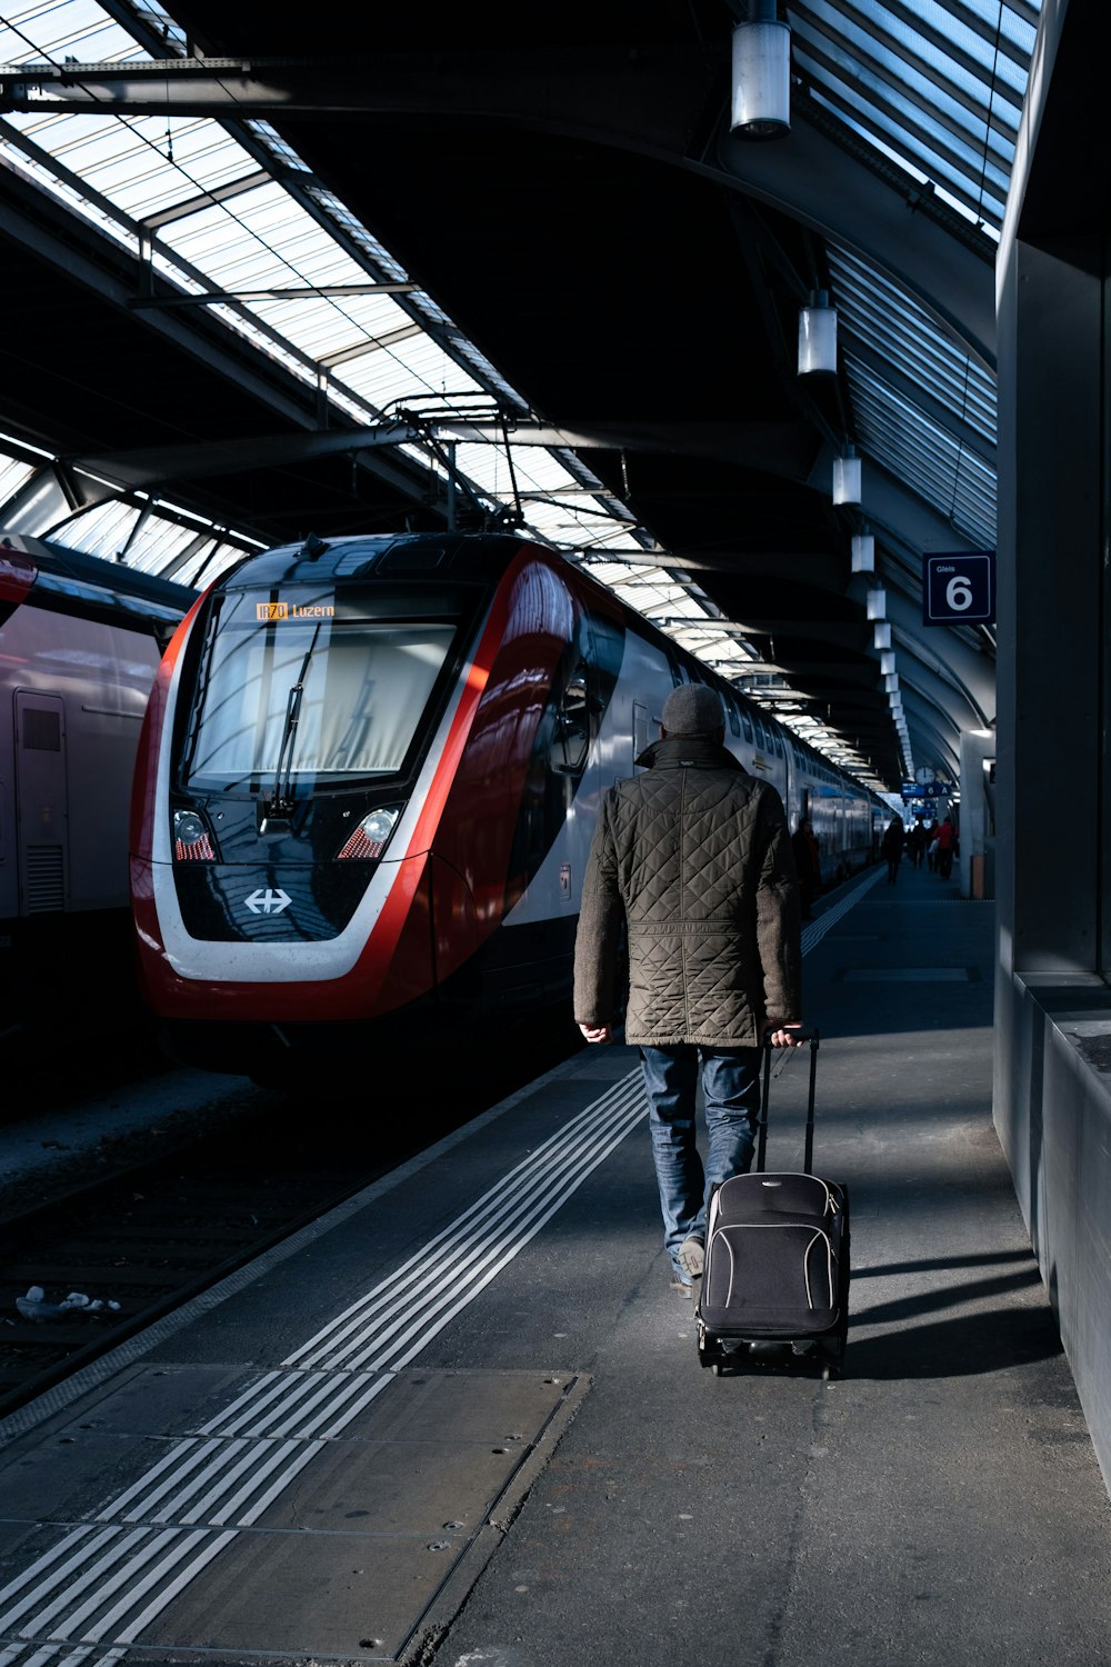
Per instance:
[[[398,1089],[400,1114],[388,1125],[351,1120],[338,1089],[308,1105],[267,1097],[258,1112],[172,1152],[125,1160],[33,1209],[8,1210],[0,1220],[0,1417],[318,1220],[571,1047],[555,1027],[496,1065],[460,1070],[455,1060],[461,1085],[445,1094],[435,1077],[426,1104]],[[365,1115],[365,1090],[355,1104]]]

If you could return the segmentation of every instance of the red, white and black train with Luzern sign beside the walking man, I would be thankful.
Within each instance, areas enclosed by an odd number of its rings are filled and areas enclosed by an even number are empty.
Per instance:
[[[243,560],[178,628],[137,763],[167,1050],[288,1082],[371,1029],[420,1042],[566,999],[600,795],[690,678],[830,877],[868,862],[868,788],[551,550],[310,537]]]

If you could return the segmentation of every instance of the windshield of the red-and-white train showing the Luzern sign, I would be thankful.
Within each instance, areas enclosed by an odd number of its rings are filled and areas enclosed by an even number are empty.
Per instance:
[[[401,770],[456,628],[448,597],[308,587],[217,597],[183,785],[341,787]]]

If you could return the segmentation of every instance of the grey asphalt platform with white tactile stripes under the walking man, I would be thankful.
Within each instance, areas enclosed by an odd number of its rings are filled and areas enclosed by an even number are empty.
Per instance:
[[[843,1380],[700,1369],[636,1055],[583,1050],[0,1427],[0,1667],[1103,1667],[1108,1492],[991,1124],[993,905],[873,870],[805,947]],[[775,1167],[805,1079],[776,1062]]]

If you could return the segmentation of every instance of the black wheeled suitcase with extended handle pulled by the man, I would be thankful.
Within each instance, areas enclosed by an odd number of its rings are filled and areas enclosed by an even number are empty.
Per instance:
[[[698,1360],[715,1374],[746,1359],[844,1367],[849,1297],[848,1190],[813,1174],[818,1032],[810,1032],[810,1102],[803,1172],[768,1174],[771,1047],[758,1120],[756,1165],[715,1189],[706,1267],[696,1292]]]

